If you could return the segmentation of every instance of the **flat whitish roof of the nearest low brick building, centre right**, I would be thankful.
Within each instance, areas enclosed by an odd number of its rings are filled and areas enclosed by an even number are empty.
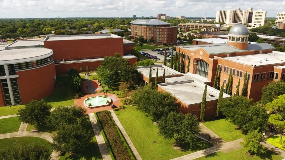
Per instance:
[[[163,89],[174,95],[176,98],[180,99],[187,105],[197,104],[202,102],[202,97],[205,89],[205,84],[200,83],[196,80],[171,82],[158,84]],[[219,98],[219,90],[213,87],[207,86],[207,97],[206,101],[217,100]],[[209,95],[213,95],[210,97]],[[223,98],[230,97],[223,93]]]

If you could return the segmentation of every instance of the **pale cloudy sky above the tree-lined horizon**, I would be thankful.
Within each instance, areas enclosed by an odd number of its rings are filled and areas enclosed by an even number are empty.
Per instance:
[[[48,17],[216,17],[217,10],[262,9],[266,17],[285,11],[285,0],[0,0],[0,18]]]

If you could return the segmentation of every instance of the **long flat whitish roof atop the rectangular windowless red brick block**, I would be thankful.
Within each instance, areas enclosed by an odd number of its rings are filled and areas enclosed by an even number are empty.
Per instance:
[[[115,34],[78,34],[78,35],[63,35],[63,36],[47,36],[44,41],[55,40],[85,40],[85,39],[103,39],[103,38],[122,38]]]

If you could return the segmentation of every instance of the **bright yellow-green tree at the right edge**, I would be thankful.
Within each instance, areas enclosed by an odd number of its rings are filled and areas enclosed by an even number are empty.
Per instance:
[[[280,141],[285,132],[285,94],[279,95],[277,99],[266,104],[266,109],[271,113],[269,122],[274,124],[276,129],[281,132]]]

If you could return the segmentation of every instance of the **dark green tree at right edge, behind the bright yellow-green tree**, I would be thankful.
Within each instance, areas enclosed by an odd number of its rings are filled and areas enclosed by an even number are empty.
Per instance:
[[[262,88],[261,92],[262,97],[260,99],[260,103],[266,105],[268,102],[272,102],[274,99],[277,99],[279,95],[285,94],[285,82],[270,82],[267,86]]]

